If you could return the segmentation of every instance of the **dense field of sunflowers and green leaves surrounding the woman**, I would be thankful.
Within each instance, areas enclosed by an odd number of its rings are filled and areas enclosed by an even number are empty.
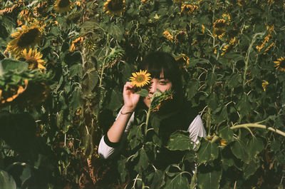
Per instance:
[[[284,188],[284,34],[283,0],[0,0],[0,188]],[[172,133],[181,161],[157,168],[142,113],[133,153],[102,160],[150,51],[175,57],[207,138]]]

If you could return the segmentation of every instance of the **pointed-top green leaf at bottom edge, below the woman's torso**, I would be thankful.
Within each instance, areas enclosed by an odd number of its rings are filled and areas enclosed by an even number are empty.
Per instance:
[[[177,173],[174,178],[167,178],[165,189],[187,189],[190,188],[190,183],[183,173]]]

